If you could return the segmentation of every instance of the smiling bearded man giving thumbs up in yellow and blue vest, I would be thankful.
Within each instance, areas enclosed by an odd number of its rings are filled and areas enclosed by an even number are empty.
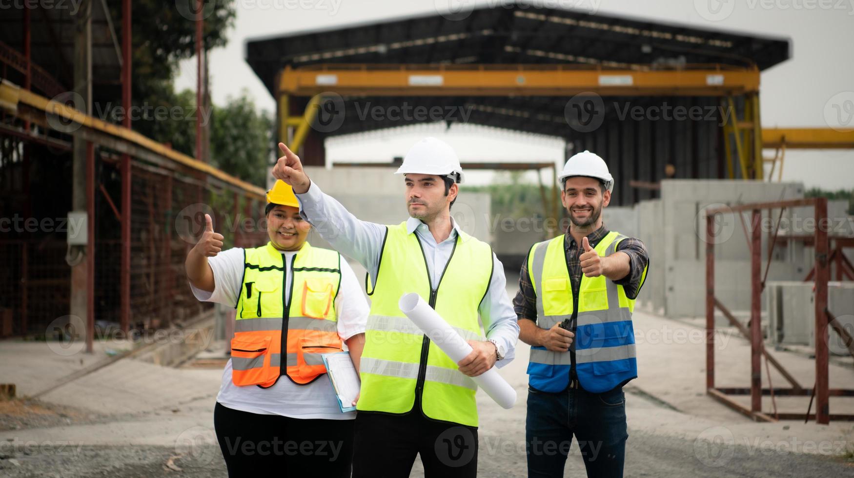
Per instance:
[[[614,179],[598,155],[572,156],[559,181],[565,234],[531,247],[513,306],[531,345],[529,476],[563,476],[575,435],[588,476],[623,476],[623,385],[637,376],[632,312],[649,262],[638,239],[605,229]]]

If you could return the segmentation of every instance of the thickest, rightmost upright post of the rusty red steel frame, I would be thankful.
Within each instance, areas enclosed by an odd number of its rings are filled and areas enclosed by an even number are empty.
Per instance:
[[[816,198],[816,423],[830,423],[828,404],[828,200]]]

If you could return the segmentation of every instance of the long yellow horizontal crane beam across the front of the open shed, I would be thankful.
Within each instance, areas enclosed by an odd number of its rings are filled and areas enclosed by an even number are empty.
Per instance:
[[[723,65],[605,69],[570,65],[319,65],[285,67],[283,95],[732,96],[759,90],[759,70]]]

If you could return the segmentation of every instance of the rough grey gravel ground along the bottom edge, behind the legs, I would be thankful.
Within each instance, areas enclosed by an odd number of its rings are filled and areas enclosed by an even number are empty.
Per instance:
[[[494,442],[493,442],[494,445]],[[482,446],[484,442],[482,439]],[[513,448],[513,447],[511,447]],[[731,451],[731,454],[730,454]],[[27,454],[29,452],[29,454]],[[701,458],[697,458],[698,455]],[[17,450],[0,458],[0,475],[19,477],[149,478],[152,476],[225,477],[225,462],[219,447],[195,446],[176,452],[164,446],[67,446],[64,449]],[[479,476],[524,477],[524,452],[488,453],[479,457]],[[584,476],[584,465],[574,448],[565,469],[566,476]],[[854,476],[854,462],[798,453],[773,457],[734,446],[726,450],[698,453],[691,440],[635,432],[629,429],[625,475],[629,476],[751,476],[757,478]],[[420,463],[413,477],[422,477]]]

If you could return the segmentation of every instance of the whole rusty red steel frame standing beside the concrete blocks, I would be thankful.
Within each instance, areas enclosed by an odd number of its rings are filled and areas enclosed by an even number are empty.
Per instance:
[[[758,228],[763,209],[774,209],[777,207],[813,206],[816,211],[816,300],[815,300],[815,327],[816,327],[816,385],[813,389],[816,396],[816,413],[807,417],[814,417],[816,423],[828,424],[834,420],[854,420],[854,415],[834,414],[829,412],[829,396],[854,396],[854,389],[828,388],[828,280],[830,276],[828,263],[828,230],[822,224],[827,223],[828,200],[826,198],[807,198],[791,201],[759,202],[742,204],[734,207],[717,207],[706,211],[706,304],[705,304],[705,329],[706,329],[706,393],[723,405],[727,405],[735,411],[739,411],[746,417],[755,421],[775,422],[775,417],[770,417],[762,411],[763,394],[780,393],[783,395],[803,395],[807,390],[796,390],[795,388],[763,388],[762,368],[760,356],[763,350],[762,331],[760,324],[760,312],[762,308],[762,241],[761,231]],[[742,211],[752,212],[753,230],[751,237],[751,406],[745,407],[734,399],[730,394],[746,394],[748,388],[716,388],[715,387],[715,308],[717,298],[715,297],[715,228],[714,218],[718,213],[740,213]],[[779,413],[780,420],[800,419],[804,415],[797,413]]]

